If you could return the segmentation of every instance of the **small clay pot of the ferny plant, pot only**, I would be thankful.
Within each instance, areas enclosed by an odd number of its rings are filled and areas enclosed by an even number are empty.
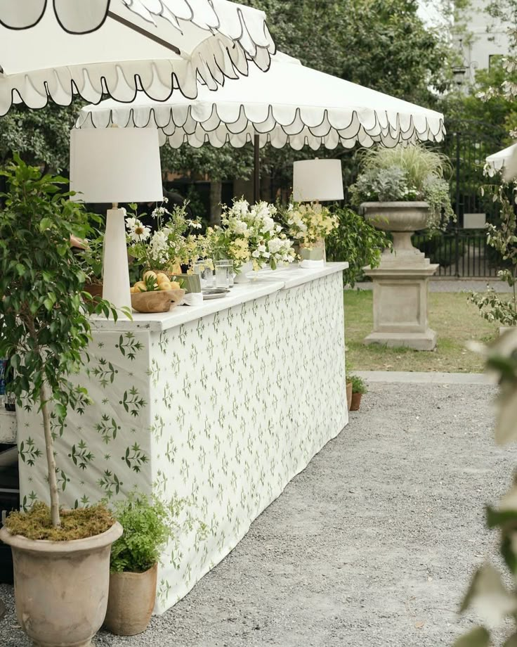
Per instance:
[[[155,606],[158,565],[145,573],[112,573],[105,628],[117,636],[135,636],[148,628]]]

